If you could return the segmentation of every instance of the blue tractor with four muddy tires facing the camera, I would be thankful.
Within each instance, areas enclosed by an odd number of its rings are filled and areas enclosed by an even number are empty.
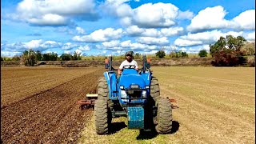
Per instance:
[[[108,134],[112,118],[128,118],[128,129],[154,130],[168,134],[172,129],[172,104],[170,99],[160,97],[158,79],[152,76],[150,62],[143,55],[142,69],[124,66],[117,77],[112,67],[112,57],[99,79],[98,99],[94,104],[97,134]]]

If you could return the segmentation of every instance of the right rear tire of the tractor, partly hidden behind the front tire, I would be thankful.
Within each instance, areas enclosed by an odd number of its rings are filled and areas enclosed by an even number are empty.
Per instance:
[[[150,96],[154,99],[154,102],[158,102],[160,98],[160,87],[158,83],[158,78],[152,77],[150,83]]]

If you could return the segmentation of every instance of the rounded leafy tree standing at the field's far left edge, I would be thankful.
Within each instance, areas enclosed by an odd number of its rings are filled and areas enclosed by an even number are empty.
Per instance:
[[[25,66],[34,66],[37,62],[34,50],[25,50],[22,54],[22,62]]]

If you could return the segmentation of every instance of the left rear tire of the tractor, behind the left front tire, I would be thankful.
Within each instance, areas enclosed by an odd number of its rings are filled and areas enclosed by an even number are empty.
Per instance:
[[[98,99],[105,100],[108,107],[113,107],[114,102],[109,98],[109,86],[107,86],[106,78],[99,78],[98,82]]]

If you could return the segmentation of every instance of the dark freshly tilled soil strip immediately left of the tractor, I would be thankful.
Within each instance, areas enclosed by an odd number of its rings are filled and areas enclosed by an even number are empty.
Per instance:
[[[75,143],[92,110],[75,103],[96,90],[102,70],[75,78],[1,110],[3,143]]]

